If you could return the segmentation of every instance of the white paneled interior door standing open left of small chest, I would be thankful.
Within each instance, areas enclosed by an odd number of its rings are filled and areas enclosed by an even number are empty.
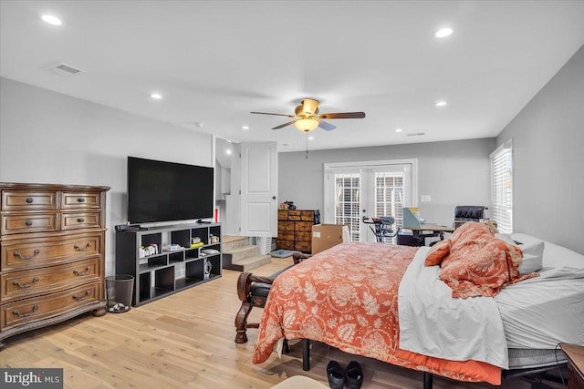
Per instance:
[[[241,144],[241,235],[277,235],[277,144]]]

